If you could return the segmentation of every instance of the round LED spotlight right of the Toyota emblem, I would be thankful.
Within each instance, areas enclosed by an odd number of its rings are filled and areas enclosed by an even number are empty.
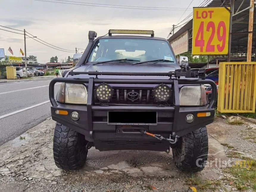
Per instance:
[[[154,88],[153,95],[157,101],[168,101],[171,96],[171,89],[165,84],[160,84]]]

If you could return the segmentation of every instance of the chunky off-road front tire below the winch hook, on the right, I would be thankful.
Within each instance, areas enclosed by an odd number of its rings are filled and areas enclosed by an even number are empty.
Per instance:
[[[172,149],[173,159],[181,171],[197,172],[205,168],[208,159],[208,136],[202,127],[179,138]],[[196,160],[198,162],[196,162]]]

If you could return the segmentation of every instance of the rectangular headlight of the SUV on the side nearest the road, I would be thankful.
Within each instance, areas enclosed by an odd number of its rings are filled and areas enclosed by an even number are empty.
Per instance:
[[[87,89],[83,84],[61,83],[58,101],[69,104],[87,104]]]

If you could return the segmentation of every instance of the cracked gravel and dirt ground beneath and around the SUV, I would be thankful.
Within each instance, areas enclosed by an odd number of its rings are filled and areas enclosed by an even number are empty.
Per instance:
[[[192,191],[192,186],[205,192],[237,191],[234,185],[227,182],[232,176],[224,174],[223,168],[218,167],[216,162],[213,167],[208,166],[203,171],[190,175],[177,170],[172,154],[165,152],[99,152],[91,148],[81,170],[60,170],[55,166],[52,155],[54,126],[55,122],[49,118],[25,132],[21,135],[22,138],[18,137],[0,146],[1,192],[187,192]],[[225,154],[228,149],[220,142],[230,142],[237,150],[255,157],[255,143],[240,138],[239,131],[245,132],[247,129],[254,130],[245,126],[231,126],[224,119],[216,119],[208,126],[209,161],[215,161],[216,158],[232,161]],[[211,185],[203,188],[205,185],[201,185],[198,178],[209,180]],[[214,184],[216,182],[219,182],[218,185]]]

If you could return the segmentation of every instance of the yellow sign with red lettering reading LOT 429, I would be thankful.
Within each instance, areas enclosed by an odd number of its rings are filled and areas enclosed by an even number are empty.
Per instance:
[[[229,24],[225,7],[193,8],[192,55],[228,54]]]

